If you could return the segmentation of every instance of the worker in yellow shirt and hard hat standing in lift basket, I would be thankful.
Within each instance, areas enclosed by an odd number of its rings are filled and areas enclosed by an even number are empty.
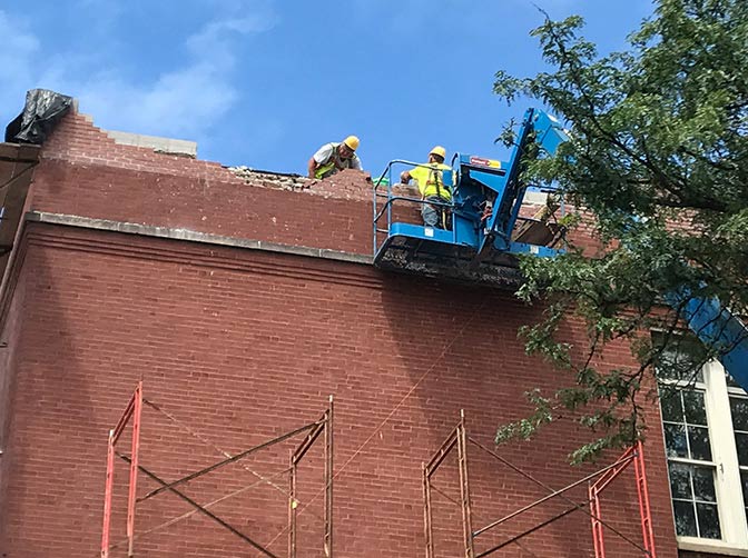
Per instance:
[[[400,181],[406,185],[411,179],[415,179],[419,185],[421,199],[424,201],[450,202],[452,200],[452,192],[444,185],[442,172],[452,170],[452,168],[444,165],[445,157],[446,150],[442,146],[434,147],[429,151],[429,162],[402,172]],[[421,206],[421,217],[423,217],[423,223],[426,227],[435,227],[437,229],[450,228],[450,213],[444,206],[423,203]]]

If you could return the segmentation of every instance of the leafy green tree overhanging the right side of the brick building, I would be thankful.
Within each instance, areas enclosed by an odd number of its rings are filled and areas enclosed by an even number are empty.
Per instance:
[[[553,70],[499,71],[494,83],[510,104],[530,97],[567,120],[571,140],[529,160],[524,178],[554,181],[601,246],[590,255],[571,241],[564,256],[521,262],[518,295],[548,305],[543,322],[522,331],[526,349],[575,381],[529,393],[532,416],[496,435],[528,438],[573,411],[597,439],[572,461],[642,436],[642,401],[656,395],[648,375],[689,378],[719,356],[685,342],[663,296],[687,289],[748,315],[748,2],[658,0],[628,51],[604,57],[582,27],[579,17],[547,18],[532,34]],[[570,316],[585,325],[584,351],[563,342]],[[594,357],[621,341],[638,366],[600,369]],[[665,358],[673,347],[686,358]]]

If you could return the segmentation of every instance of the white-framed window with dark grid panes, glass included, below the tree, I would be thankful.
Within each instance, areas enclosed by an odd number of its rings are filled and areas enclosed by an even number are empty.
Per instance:
[[[660,378],[660,406],[679,542],[748,549],[748,396],[713,362]]]

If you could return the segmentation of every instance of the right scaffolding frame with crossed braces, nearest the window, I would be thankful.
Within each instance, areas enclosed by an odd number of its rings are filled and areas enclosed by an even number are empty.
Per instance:
[[[481,527],[480,529],[473,530],[473,509],[472,509],[472,502],[471,502],[471,492],[470,492],[470,475],[469,475],[469,468],[468,468],[468,444],[472,444],[473,446],[480,448],[484,452],[489,454],[492,456],[494,459],[500,461],[501,464],[505,465],[510,469],[514,470],[515,472],[520,474],[522,477],[529,479],[533,484],[542,487],[544,490],[547,490],[549,494],[544,496],[543,498],[540,498],[515,511],[512,511],[511,514],[496,519],[494,521],[491,521],[490,524],[485,525],[484,527]],[[651,519],[651,509],[650,509],[650,502],[649,502],[649,491],[647,488],[647,476],[646,476],[646,470],[644,470],[644,457],[643,457],[643,447],[641,441],[637,441],[633,446],[628,448],[619,459],[617,459],[613,464],[603,467],[602,469],[599,469],[591,475],[588,475],[561,489],[553,489],[550,486],[545,485],[544,482],[535,479],[528,472],[523,471],[521,468],[512,465],[510,461],[504,459],[502,456],[496,454],[495,451],[490,450],[485,446],[483,446],[481,442],[478,440],[471,438],[468,435],[468,429],[465,427],[465,413],[464,410],[460,410],[460,421],[457,422],[457,426],[452,430],[450,436],[444,440],[444,442],[440,446],[440,448],[436,450],[436,452],[432,456],[431,460],[429,462],[423,462],[422,464],[422,480],[423,480],[423,518],[424,518],[424,538],[425,538],[425,547],[426,547],[426,558],[434,558],[434,536],[433,536],[433,504],[432,504],[432,490],[439,491],[433,485],[432,485],[432,477],[433,475],[439,470],[439,467],[441,464],[444,461],[444,459],[450,455],[450,452],[456,448],[457,451],[457,469],[459,469],[459,480],[460,480],[460,501],[452,500],[454,504],[457,504],[461,507],[462,510],[462,535],[463,535],[463,544],[464,544],[464,557],[465,558],[483,558],[485,556],[489,556],[496,550],[500,550],[501,548],[504,548],[508,545],[515,544],[519,541],[519,539],[535,532],[543,527],[547,527],[548,525],[557,521],[558,519],[561,519],[568,515],[570,515],[573,511],[583,511],[587,514],[591,520],[592,520],[592,539],[593,539],[593,547],[594,547],[594,556],[596,558],[606,558],[606,552],[604,552],[604,541],[603,541],[603,528],[608,528],[610,531],[614,532],[618,537],[622,538],[633,547],[636,547],[639,551],[642,552],[642,556],[644,558],[657,558],[657,552],[654,549],[654,536],[652,531],[652,519]],[[600,495],[601,492],[612,482],[619,475],[621,475],[631,464],[633,462],[634,465],[634,475],[636,475],[636,481],[637,481],[637,494],[638,494],[638,502],[639,502],[639,515],[640,515],[640,521],[641,521],[641,529],[642,529],[642,538],[643,538],[643,545],[639,545],[634,540],[630,539],[626,535],[623,535],[621,531],[612,527],[610,524],[606,522],[602,519],[601,516],[601,506],[600,506]],[[594,480],[597,479],[597,480]],[[583,485],[584,482],[588,484],[588,494],[589,498],[584,502],[577,502],[569,497],[565,496],[565,492],[571,490],[572,488],[575,488],[580,485]],[[513,536],[503,542],[495,545],[488,550],[484,550],[480,554],[475,552],[475,539],[502,525],[503,522],[515,518],[525,511],[533,509],[553,498],[560,498],[563,499],[564,501],[571,504],[571,507],[567,508],[565,510],[561,511],[560,514],[557,514],[555,516],[551,517],[550,519],[547,519],[544,521],[541,521],[533,527],[525,529],[523,532]],[[451,499],[451,498],[450,498]],[[589,505],[589,510],[587,509],[587,506]]]

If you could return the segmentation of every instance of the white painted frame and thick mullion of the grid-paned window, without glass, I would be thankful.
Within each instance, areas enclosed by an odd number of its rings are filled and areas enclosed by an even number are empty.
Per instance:
[[[730,393],[746,395],[746,392],[740,388],[728,388],[725,368],[717,361],[707,363],[702,372],[703,382],[688,383],[666,379],[661,379],[660,382],[705,393],[705,407],[711,444],[711,462],[716,467],[715,491],[717,494],[717,509],[722,538],[706,539],[677,536],[678,548],[681,550],[748,557],[748,522],[742,501],[738,449],[735,442],[729,400]],[[662,425],[662,421],[660,421],[660,425]],[[662,438],[665,441],[665,428],[662,429]],[[668,462],[670,460],[668,458]],[[677,459],[672,459],[672,461],[687,462],[686,460]],[[668,490],[670,490],[669,481]],[[670,494],[670,502],[672,506],[672,494]],[[672,518],[675,522],[675,510]]]

